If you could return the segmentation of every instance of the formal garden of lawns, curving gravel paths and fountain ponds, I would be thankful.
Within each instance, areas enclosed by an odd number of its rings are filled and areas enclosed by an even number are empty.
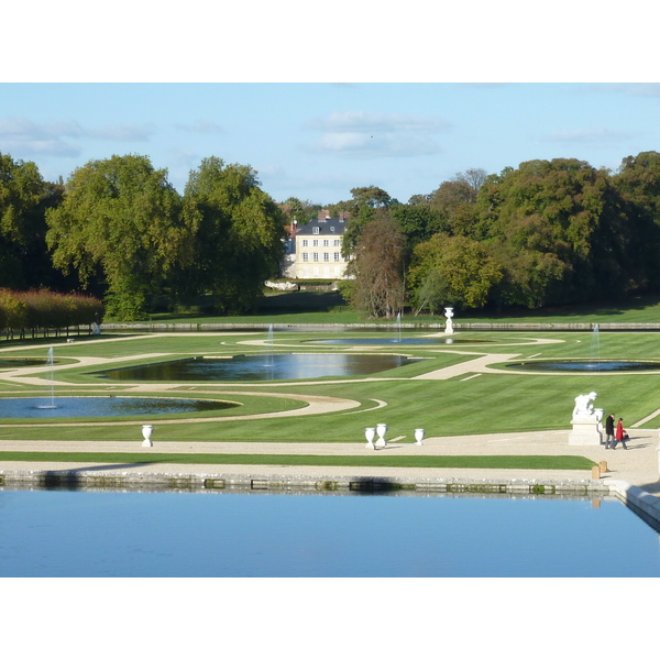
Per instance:
[[[263,453],[251,454],[249,446],[254,442],[364,446],[364,429],[377,424],[386,424],[388,438],[396,438],[397,442],[415,442],[414,430],[420,427],[427,437],[561,430],[570,428],[574,397],[592,389],[597,392],[596,405],[606,413],[616,409],[628,425],[654,428],[659,420],[653,414],[660,408],[656,394],[660,386],[660,336],[654,331],[595,329],[594,323],[652,323],[656,311],[656,304],[631,305],[616,314],[592,309],[585,315],[590,319],[585,328],[579,331],[458,329],[448,336],[440,318],[427,327],[410,329],[408,322],[416,321],[413,317],[404,318],[400,324],[340,326],[336,324],[332,312],[317,312],[316,321],[326,324],[294,328],[289,317],[283,320],[284,317],[274,315],[231,319],[233,328],[216,332],[103,328],[100,334],[72,332],[68,339],[62,334],[8,340],[0,345],[0,403],[23,399],[25,411],[2,417],[0,440],[32,441],[34,449],[44,441],[125,442],[125,452],[95,453],[96,462],[276,461],[317,465],[585,469],[591,463],[579,457],[527,458],[534,464],[520,464],[525,457],[393,457],[391,452],[377,451],[365,451],[364,457],[275,459]],[[568,317],[571,322],[583,320]],[[312,322],[310,316],[305,318],[301,322]],[[559,323],[566,322],[565,319],[565,312],[559,311],[556,317],[544,312],[540,320]],[[168,318],[167,322],[175,320],[191,322],[190,318]],[[302,372],[273,371],[282,360],[290,360],[293,355],[308,360],[300,367]],[[30,360],[41,363],[20,362]],[[233,374],[213,371],[218,365],[226,367],[246,360],[253,361],[249,367],[251,375],[246,375],[245,367]],[[578,372],[524,371],[519,364],[528,366],[541,360],[580,360],[590,366]],[[609,361],[654,360],[659,361],[658,367],[651,364],[648,371],[607,369]],[[180,375],[180,371],[152,373],[155,364],[167,364],[168,369],[193,364],[198,371],[187,375]],[[146,365],[152,366],[112,374],[119,369]],[[322,375],[328,365],[339,372]],[[311,371],[312,366],[321,372]],[[229,406],[148,415],[135,414],[127,406],[110,417],[85,414],[63,418],[48,410],[47,404],[64,407],[67,397],[81,396],[114,397],[121,402],[130,402],[128,397],[212,400]],[[40,404],[46,405],[40,409]],[[140,450],[143,424],[154,426],[154,447],[147,450],[148,457]],[[238,442],[244,444],[245,452],[160,454],[158,446],[168,442]],[[64,455],[62,451],[6,451],[0,458],[6,461],[91,458],[75,452]]]

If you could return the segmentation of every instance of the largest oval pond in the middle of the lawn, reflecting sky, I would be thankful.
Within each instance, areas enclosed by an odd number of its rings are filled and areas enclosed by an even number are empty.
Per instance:
[[[230,360],[197,358],[100,372],[117,381],[284,381],[361,376],[409,364],[403,355],[275,353]]]

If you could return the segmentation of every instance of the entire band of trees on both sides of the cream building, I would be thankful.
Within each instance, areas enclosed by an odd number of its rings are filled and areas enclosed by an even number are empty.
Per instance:
[[[660,154],[616,172],[583,161],[469,169],[407,204],[376,186],[351,199],[277,204],[248,165],[205,158],[183,194],[146,156],[112,156],[46,182],[0,153],[0,289],[103,299],[106,318],[157,305],[250,310],[278,272],[285,226],[349,211],[342,293],[370,316],[539,308],[660,292]]]

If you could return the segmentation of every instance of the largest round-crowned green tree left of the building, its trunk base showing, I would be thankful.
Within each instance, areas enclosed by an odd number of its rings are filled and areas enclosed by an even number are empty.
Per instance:
[[[58,208],[46,213],[54,264],[82,283],[98,271],[108,318],[144,318],[173,266],[191,258],[194,229],[180,198],[146,156],[91,161],[68,178]]]

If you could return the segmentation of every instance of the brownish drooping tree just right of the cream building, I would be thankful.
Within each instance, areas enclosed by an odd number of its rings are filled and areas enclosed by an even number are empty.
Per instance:
[[[404,305],[404,238],[385,209],[365,224],[348,266],[351,302],[370,317],[394,318]]]

